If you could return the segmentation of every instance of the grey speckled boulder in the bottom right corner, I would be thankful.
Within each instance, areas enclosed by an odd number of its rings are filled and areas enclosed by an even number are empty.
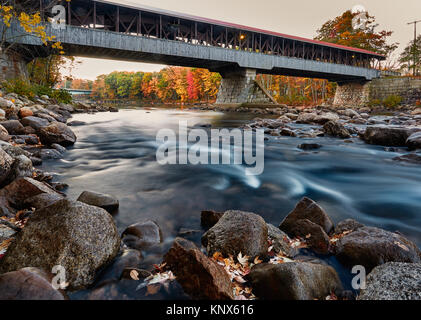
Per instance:
[[[374,268],[357,300],[421,300],[421,264],[389,262]]]

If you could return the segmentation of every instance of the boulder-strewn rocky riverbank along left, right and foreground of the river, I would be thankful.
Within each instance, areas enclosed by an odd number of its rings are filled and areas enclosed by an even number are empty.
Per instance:
[[[164,241],[156,222],[139,221],[119,234],[112,217],[118,199],[93,191],[68,199],[65,185],[36,169],[75,143],[71,127],[83,123],[72,122],[72,113],[117,110],[14,94],[1,97],[0,107],[0,299],[68,299],[74,292],[85,299],[421,299],[421,253],[413,242],[354,220],[335,225],[308,198],[279,226],[250,212],[203,211],[203,230],[180,233],[162,264],[142,269]],[[407,150],[405,159],[416,163],[420,114],[283,107],[276,119],[255,119],[245,129],[263,128],[268,139],[361,137]],[[202,232],[201,247],[188,240]],[[349,291],[328,257],[349,270],[363,266],[366,289]],[[51,286],[55,266],[66,271],[61,289]]]

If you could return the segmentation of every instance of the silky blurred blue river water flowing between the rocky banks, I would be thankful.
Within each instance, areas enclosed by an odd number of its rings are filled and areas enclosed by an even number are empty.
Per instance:
[[[156,161],[156,133],[189,127],[238,127],[256,117],[179,109],[125,109],[119,113],[77,114],[78,141],[64,159],[45,162],[43,169],[70,185],[76,199],[84,190],[115,195],[119,231],[144,219],[155,220],[165,238],[162,248],[145,256],[145,267],[159,263],[174,237],[201,230],[205,209],[237,209],[260,214],[279,225],[303,197],[317,201],[334,220],[353,218],[366,225],[399,230],[421,245],[421,167],[391,159],[401,153],[335,138],[270,137],[265,141],[265,170],[247,176],[239,165],[167,165]],[[304,126],[311,129],[310,126]],[[301,143],[322,148],[305,152]],[[192,233],[200,243],[201,233]],[[334,262],[333,262],[334,263]]]

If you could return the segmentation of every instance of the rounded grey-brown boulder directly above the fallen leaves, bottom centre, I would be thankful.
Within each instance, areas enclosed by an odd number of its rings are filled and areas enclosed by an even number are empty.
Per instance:
[[[240,252],[254,259],[268,252],[268,227],[257,214],[244,211],[227,211],[218,223],[202,237],[209,255],[237,256]]]

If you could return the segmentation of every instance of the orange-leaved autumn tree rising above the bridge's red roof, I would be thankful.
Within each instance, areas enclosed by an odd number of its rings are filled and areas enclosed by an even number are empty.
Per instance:
[[[359,26],[354,28],[356,19],[362,19],[362,21],[359,21]],[[375,17],[367,12],[352,13],[351,10],[348,10],[323,24],[317,30],[315,39],[390,56],[398,47],[398,43],[389,44],[388,39],[393,32],[377,31],[378,26]]]

